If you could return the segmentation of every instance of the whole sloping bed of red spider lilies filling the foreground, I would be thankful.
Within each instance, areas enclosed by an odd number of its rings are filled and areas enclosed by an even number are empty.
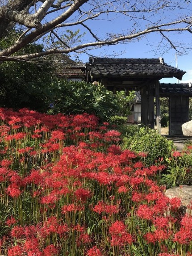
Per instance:
[[[192,255],[192,217],[156,181],[165,166],[122,151],[109,123],[28,109],[0,122],[0,255]]]

